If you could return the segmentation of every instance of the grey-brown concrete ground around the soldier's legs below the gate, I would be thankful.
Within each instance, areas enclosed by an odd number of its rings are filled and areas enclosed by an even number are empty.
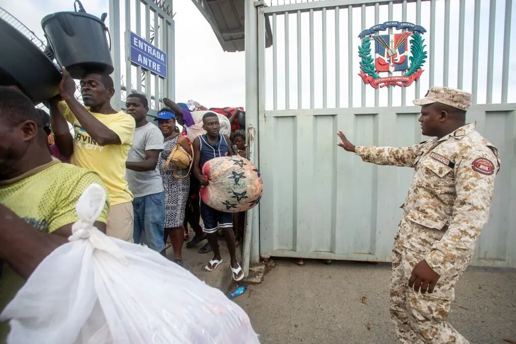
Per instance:
[[[235,299],[262,343],[397,343],[389,318],[390,264],[275,263],[262,284]],[[516,340],[514,286],[516,269],[467,269],[450,322],[476,343]]]

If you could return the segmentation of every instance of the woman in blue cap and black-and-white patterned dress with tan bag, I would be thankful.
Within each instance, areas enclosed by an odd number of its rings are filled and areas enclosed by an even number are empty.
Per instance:
[[[170,161],[168,170],[165,170],[165,162],[176,144],[181,145],[191,155],[188,139],[175,132],[175,115],[170,109],[162,109],[158,112],[158,127],[163,133],[164,148],[159,154],[158,166],[163,179],[165,189],[165,241],[170,236],[174,250],[175,263],[183,266],[181,250],[183,248],[183,221],[185,219],[186,200],[190,188],[190,178],[176,178],[173,175],[175,164]],[[185,176],[188,169],[178,169],[176,175]]]

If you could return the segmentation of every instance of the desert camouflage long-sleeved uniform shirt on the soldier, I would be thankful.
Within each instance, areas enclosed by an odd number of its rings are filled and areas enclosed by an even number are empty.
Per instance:
[[[496,148],[464,125],[441,139],[405,148],[357,146],[362,160],[415,169],[404,209],[414,223],[400,228],[396,243],[425,254],[440,275],[471,259],[475,241],[489,218]]]

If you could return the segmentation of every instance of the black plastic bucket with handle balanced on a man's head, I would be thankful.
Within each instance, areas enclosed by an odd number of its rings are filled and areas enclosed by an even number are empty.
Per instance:
[[[60,65],[73,78],[88,71],[111,74],[113,62],[102,20],[85,12],[57,12],[41,20],[41,27]]]

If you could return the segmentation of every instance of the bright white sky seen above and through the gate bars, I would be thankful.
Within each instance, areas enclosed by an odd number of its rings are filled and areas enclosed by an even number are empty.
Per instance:
[[[86,11],[100,17],[102,12],[108,12],[108,0],[83,0]],[[123,11],[123,1],[122,11]],[[422,3],[422,26],[429,30],[430,2]],[[457,87],[458,67],[458,1],[450,1],[450,50],[449,50],[449,84],[450,87]],[[487,51],[488,51],[488,24],[489,24],[489,3],[490,0],[480,0],[480,46],[479,46],[479,79],[478,79],[478,103],[486,100],[486,78],[487,78]],[[465,39],[464,39],[464,68],[463,89],[471,90],[472,84],[472,52],[473,52],[473,0],[466,1],[465,10]],[[0,0],[0,6],[4,7],[11,14],[21,20],[36,34],[43,37],[41,29],[41,18],[48,13],[57,11],[73,10],[72,0]],[[501,75],[502,75],[502,52],[504,39],[504,15],[505,1],[498,0],[496,6],[495,25],[495,61],[493,71],[493,103],[501,99]],[[207,107],[222,106],[245,106],[245,64],[244,52],[226,53],[215,37],[211,27],[204,19],[197,7],[191,0],[174,0],[173,11],[176,13],[175,21],[175,86],[176,101],[186,102],[193,99]],[[415,4],[409,3],[407,7],[407,21],[415,23]],[[335,106],[335,12],[327,11],[327,42],[328,42],[328,77],[327,93],[328,107]],[[401,21],[401,5],[395,4],[393,19]],[[348,104],[348,78],[353,84],[353,106],[361,105],[362,80],[359,73],[358,45],[357,38],[362,30],[361,10],[353,9],[353,34],[351,43],[347,39],[347,9],[340,11],[340,100],[341,107]],[[387,8],[380,6],[380,21],[387,21]],[[512,7],[512,23],[516,21],[516,6]],[[310,107],[310,64],[309,64],[309,13],[302,14],[302,81],[301,96],[302,107]],[[321,12],[314,12],[314,99],[315,107],[322,106],[322,43],[321,43]],[[443,42],[444,42],[444,0],[436,2],[436,45],[435,45],[435,72],[434,85],[443,85]],[[272,26],[272,19],[270,19]],[[374,8],[367,7],[366,25],[373,26]],[[123,16],[121,25],[124,26]],[[297,108],[297,26],[296,14],[289,15],[289,98],[290,107]],[[285,108],[285,34],[284,16],[277,15],[277,61],[278,61],[278,108]],[[509,72],[509,102],[516,102],[516,25],[511,26],[511,48],[510,48],[510,72]],[[384,32],[386,33],[386,32]],[[143,35],[142,35],[143,36]],[[429,32],[423,35],[427,51],[429,45]],[[123,45],[123,40],[122,44]],[[374,45],[374,44],[372,44]],[[348,63],[348,51],[352,51],[351,63]],[[265,53],[266,68],[264,71],[266,85],[266,108],[273,108],[273,83],[272,83],[272,48]],[[123,58],[123,53],[122,53]],[[425,72],[420,81],[421,95],[424,95],[429,87],[429,63],[428,59],[423,69]],[[135,73],[135,72],[134,72]],[[124,68],[122,68],[124,74]],[[397,75],[397,74],[395,74]],[[381,75],[386,76],[386,75]],[[134,80],[133,77],[133,87]],[[153,87],[153,86],[152,86]],[[380,106],[386,106],[385,88],[380,89]],[[374,90],[367,85],[365,87],[366,105],[374,106]],[[401,89],[396,87],[393,90],[393,105],[400,105]],[[414,85],[407,89],[407,104],[414,99]]]

